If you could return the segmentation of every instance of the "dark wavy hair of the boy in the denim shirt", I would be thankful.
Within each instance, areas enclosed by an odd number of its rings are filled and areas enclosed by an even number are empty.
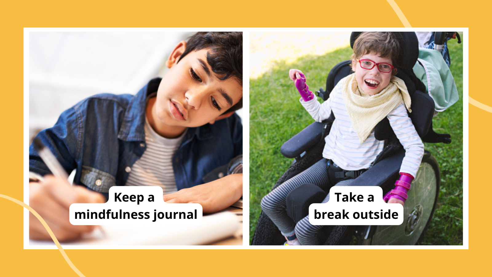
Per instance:
[[[220,80],[233,77],[243,86],[243,32],[198,32],[186,42],[186,49],[181,54],[184,58],[192,51],[209,48],[207,63],[217,75],[223,75]],[[243,98],[224,113],[243,107]]]

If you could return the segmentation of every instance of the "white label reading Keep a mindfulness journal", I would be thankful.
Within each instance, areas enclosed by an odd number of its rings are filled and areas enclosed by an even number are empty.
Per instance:
[[[106,203],[70,205],[72,225],[196,225],[200,204],[168,204],[159,186],[113,186]]]

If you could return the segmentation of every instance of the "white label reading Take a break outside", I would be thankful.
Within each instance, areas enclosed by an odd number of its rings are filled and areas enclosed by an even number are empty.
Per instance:
[[[309,206],[312,225],[400,225],[403,206],[383,201],[378,186],[334,186],[330,201]]]

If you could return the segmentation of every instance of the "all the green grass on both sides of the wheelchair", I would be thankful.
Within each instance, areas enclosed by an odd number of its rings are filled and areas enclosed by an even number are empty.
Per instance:
[[[460,95],[458,103],[434,118],[434,130],[451,134],[451,144],[425,144],[441,168],[441,190],[424,245],[461,245],[463,242],[463,143],[462,143],[462,44],[449,43],[451,71]],[[249,135],[249,235],[261,212],[260,201],[292,163],[280,154],[280,146],[312,122],[299,103],[299,94],[288,77],[289,69],[301,69],[310,90],[325,87],[329,69],[349,59],[350,47],[324,56],[305,56],[293,64],[279,61],[273,69],[250,83]]]

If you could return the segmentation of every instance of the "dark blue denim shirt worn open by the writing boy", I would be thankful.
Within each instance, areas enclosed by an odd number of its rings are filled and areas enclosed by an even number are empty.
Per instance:
[[[146,98],[157,91],[160,80],[151,80],[135,96],[99,94],[87,98],[64,111],[55,126],[39,132],[36,138],[68,173],[76,170],[74,184],[107,198],[111,186],[126,183],[132,165],[146,149]],[[214,124],[188,128],[173,156],[178,190],[210,181],[209,173],[227,167],[242,153],[243,126],[236,113]],[[51,173],[32,144],[29,170],[40,175]]]

